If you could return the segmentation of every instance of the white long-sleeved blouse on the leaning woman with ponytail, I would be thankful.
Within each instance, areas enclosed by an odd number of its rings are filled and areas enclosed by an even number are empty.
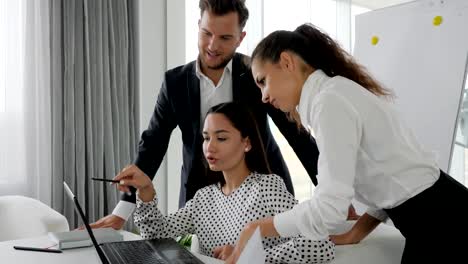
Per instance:
[[[435,155],[423,149],[393,106],[347,78],[314,71],[298,112],[316,136],[319,184],[310,200],[274,218],[281,236],[328,237],[345,221],[353,197],[384,220],[381,209],[400,205],[439,178]]]

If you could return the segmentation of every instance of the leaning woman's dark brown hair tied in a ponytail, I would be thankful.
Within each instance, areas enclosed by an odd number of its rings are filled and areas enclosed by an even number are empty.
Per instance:
[[[328,76],[343,76],[369,92],[392,98],[393,93],[383,87],[354,58],[340,47],[330,36],[312,24],[303,24],[294,31],[278,30],[264,38],[252,53],[252,61],[277,63],[283,51],[299,55],[314,69]]]

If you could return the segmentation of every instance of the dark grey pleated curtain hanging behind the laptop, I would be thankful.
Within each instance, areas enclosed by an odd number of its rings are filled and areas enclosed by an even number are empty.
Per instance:
[[[91,177],[112,179],[136,154],[136,4],[50,0],[50,5],[52,206],[73,228],[82,223],[62,182],[94,222],[112,212],[120,194]]]

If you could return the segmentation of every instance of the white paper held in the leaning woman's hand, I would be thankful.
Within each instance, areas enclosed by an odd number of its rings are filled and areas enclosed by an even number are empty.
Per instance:
[[[260,236],[260,228],[257,227],[252,237],[245,245],[237,264],[264,264],[266,253],[263,249],[262,237]]]

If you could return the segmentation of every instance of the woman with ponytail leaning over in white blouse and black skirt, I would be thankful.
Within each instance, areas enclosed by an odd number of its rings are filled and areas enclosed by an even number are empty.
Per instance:
[[[318,185],[310,200],[246,225],[227,263],[258,226],[267,237],[326,239],[353,198],[369,210],[334,241],[358,242],[390,217],[406,238],[402,263],[466,263],[453,241],[468,237],[467,188],[439,170],[396,114],[392,93],[333,39],[309,24],[273,32],[254,50],[252,72],[265,103],[315,134]]]

